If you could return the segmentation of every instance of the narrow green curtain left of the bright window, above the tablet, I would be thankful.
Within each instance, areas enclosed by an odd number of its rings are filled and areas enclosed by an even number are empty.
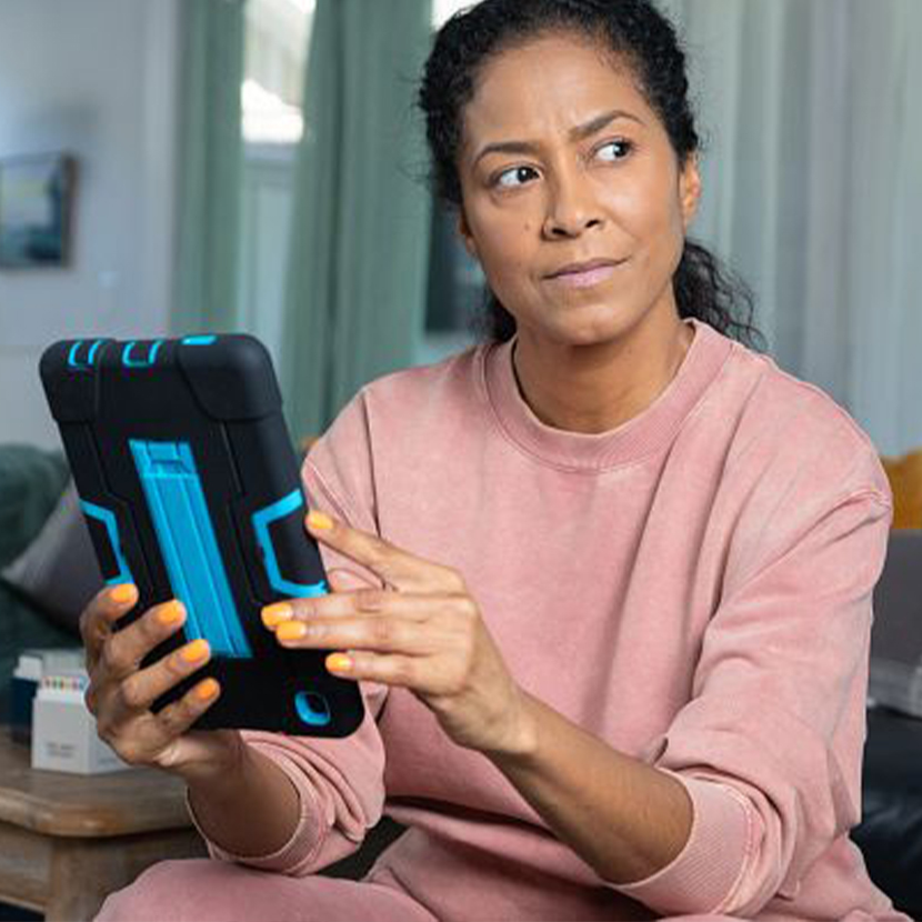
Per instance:
[[[180,9],[174,333],[237,322],[243,141],[243,0]]]

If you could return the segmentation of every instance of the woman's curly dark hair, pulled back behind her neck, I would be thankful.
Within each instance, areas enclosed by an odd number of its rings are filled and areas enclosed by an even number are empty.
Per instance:
[[[601,42],[629,64],[681,166],[699,151],[685,54],[672,22],[652,0],[482,0],[441,28],[419,90],[432,186],[450,207],[461,207],[458,156],[463,109],[473,98],[478,74],[501,51],[560,31]],[[673,289],[681,318],[698,318],[753,349],[761,348],[758,340],[764,338],[752,324],[752,291],[701,244],[685,240]],[[488,338],[500,341],[515,332],[515,319],[489,288],[481,327]]]

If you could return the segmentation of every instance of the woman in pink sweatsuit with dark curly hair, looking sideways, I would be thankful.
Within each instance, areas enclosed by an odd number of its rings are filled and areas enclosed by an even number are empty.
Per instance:
[[[100,595],[100,732],[187,781],[220,859],[101,919],[905,919],[848,838],[888,483],[825,394],[725,335],[685,240],[687,96],[649,0],[485,0],[442,29],[421,103],[495,335],[342,411],[304,465],[334,592],[264,612],[367,719],[187,732],[213,680],[149,708],[203,642],[137,670],[181,607],[112,634],[136,595]],[[409,830],[364,881],[311,876],[385,798]]]

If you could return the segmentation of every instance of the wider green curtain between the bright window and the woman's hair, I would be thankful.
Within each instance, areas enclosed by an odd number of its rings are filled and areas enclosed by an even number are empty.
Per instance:
[[[430,0],[317,3],[280,362],[295,439],[413,362],[430,226],[414,98],[430,23]]]

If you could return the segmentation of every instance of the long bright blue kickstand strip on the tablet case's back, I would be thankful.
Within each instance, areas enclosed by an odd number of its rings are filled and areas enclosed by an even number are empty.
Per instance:
[[[188,442],[129,440],[186,632],[218,655],[252,657]]]

